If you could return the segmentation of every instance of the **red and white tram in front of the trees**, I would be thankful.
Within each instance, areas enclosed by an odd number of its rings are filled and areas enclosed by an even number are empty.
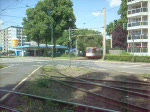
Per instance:
[[[98,47],[87,47],[86,48],[86,57],[88,59],[100,59],[100,58],[102,58],[101,49]]]

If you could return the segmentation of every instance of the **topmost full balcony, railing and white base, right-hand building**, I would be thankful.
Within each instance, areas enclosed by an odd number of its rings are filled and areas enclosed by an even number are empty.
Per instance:
[[[148,8],[143,7],[143,8],[128,10],[128,17],[139,16],[139,15],[148,15]]]

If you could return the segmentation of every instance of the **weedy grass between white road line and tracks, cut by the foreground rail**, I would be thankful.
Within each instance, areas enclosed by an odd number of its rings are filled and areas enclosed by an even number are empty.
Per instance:
[[[57,74],[54,69],[55,67],[43,67],[42,72],[45,75],[36,76],[36,78],[28,82],[23,92],[47,98],[70,101],[73,97],[72,93],[75,90],[51,80],[48,76]],[[50,100],[37,100],[27,96],[21,96],[21,98],[18,99],[18,109],[24,112],[74,112],[76,108]]]

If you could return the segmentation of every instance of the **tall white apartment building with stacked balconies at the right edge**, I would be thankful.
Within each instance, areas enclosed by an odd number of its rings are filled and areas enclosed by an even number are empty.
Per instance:
[[[150,56],[150,0],[127,0],[127,51]]]

